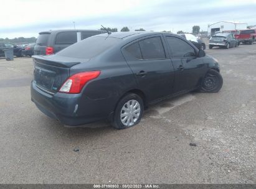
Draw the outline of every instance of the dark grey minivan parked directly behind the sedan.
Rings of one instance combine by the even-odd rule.
[[[40,32],[34,47],[34,55],[50,55],[75,44],[77,33],[80,33],[81,40],[106,33],[104,30],[50,30]]]

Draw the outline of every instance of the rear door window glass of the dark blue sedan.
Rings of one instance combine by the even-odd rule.
[[[149,39],[141,40],[139,43],[143,59],[166,58],[160,37],[152,37]]]

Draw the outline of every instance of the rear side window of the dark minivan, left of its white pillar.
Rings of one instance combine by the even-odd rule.
[[[57,34],[55,44],[75,44],[77,42],[77,32],[60,32]]]

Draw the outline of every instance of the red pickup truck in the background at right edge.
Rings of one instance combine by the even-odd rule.
[[[243,44],[252,45],[256,38],[256,29],[240,30],[240,34],[235,34],[235,39],[239,40]]]

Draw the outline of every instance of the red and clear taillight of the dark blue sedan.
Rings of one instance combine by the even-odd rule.
[[[64,84],[61,86],[59,92],[61,93],[80,93],[83,86],[100,75],[100,71],[86,71],[76,73],[75,75],[70,76]]]

